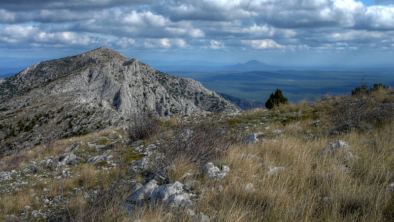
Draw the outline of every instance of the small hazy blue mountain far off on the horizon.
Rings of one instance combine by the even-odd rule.
[[[238,63],[235,65],[227,65],[219,68],[220,71],[277,71],[280,66],[269,65],[257,60],[251,60],[247,63]]]

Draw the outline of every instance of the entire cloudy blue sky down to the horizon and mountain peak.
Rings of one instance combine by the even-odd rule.
[[[0,68],[101,46],[140,61],[390,65],[394,1],[0,0]]]

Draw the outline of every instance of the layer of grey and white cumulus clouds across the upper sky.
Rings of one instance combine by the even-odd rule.
[[[0,42],[120,49],[392,47],[394,5],[357,0],[0,0]]]

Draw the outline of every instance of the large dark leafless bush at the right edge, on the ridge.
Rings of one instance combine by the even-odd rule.
[[[372,125],[380,125],[394,116],[393,103],[381,103],[366,84],[352,95],[341,95],[332,103],[326,119],[334,126],[333,133],[350,132],[351,129],[370,131]]]

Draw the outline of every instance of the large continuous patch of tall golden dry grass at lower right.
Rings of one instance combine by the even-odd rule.
[[[231,147],[221,159],[230,166],[230,174],[220,182],[201,180],[194,210],[209,215],[211,221],[393,221],[394,200],[387,186],[394,180],[394,122],[374,128],[373,133],[354,131],[335,137],[315,127],[319,133],[306,139],[299,127],[310,124],[290,124],[282,136],[258,145]],[[321,155],[337,139],[346,141],[348,151],[359,158],[344,160],[347,151]],[[255,156],[241,158],[244,154]],[[349,169],[344,171],[341,164]],[[185,172],[201,173],[181,161],[175,165],[177,170],[168,172],[171,182],[181,181]],[[269,175],[267,165],[286,170]],[[246,189],[249,183],[254,189]],[[325,202],[324,197],[330,200]],[[168,212],[162,206],[146,206],[132,220],[194,220],[182,211]]]

